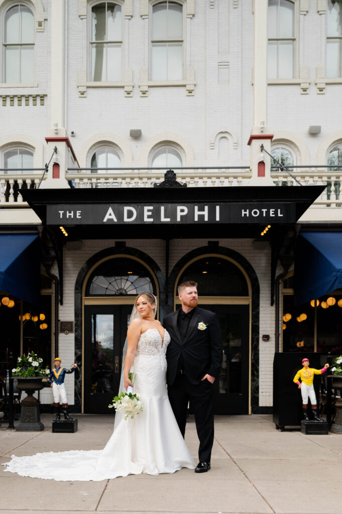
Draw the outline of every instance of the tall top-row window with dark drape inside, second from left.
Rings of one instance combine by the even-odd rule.
[[[121,80],[121,5],[101,2],[92,6],[91,71],[94,82]]]

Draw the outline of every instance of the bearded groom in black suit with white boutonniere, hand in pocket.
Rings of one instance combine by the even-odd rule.
[[[168,395],[183,437],[191,402],[200,439],[200,462],[195,472],[204,473],[210,469],[214,440],[213,383],[222,363],[221,330],[214,313],[197,307],[196,282],[179,285],[178,297],[182,308],[164,319],[171,336],[166,353]]]

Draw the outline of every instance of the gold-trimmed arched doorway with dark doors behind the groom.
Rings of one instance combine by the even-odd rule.
[[[199,306],[217,314],[222,331],[223,362],[215,381],[215,414],[250,413],[251,284],[241,264],[227,255],[197,255],[178,271],[174,307],[179,308],[177,286],[198,283]]]

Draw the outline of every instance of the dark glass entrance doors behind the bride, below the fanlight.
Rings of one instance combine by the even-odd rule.
[[[132,305],[84,307],[84,412],[109,413],[120,383]]]

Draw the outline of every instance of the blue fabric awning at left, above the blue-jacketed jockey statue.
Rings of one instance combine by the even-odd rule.
[[[40,244],[37,234],[0,234],[0,291],[40,303]]]

